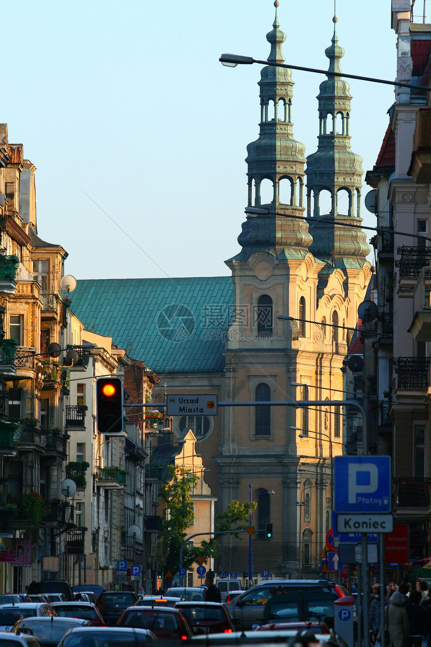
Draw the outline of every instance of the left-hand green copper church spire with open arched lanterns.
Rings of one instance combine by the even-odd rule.
[[[268,61],[283,63],[282,44],[275,3],[275,20],[266,35],[271,45]],[[291,105],[293,81],[287,67],[268,65],[260,72],[259,137],[247,146],[248,206],[265,206],[286,215],[258,215],[242,225],[238,243],[247,259],[258,250],[276,258],[304,258],[311,244],[305,221],[287,217],[303,215],[305,146],[293,137]],[[268,191],[266,191],[266,190]]]

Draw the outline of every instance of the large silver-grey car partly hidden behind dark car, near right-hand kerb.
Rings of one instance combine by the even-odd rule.
[[[265,580],[226,604],[234,626],[251,630],[264,618],[264,605],[273,595],[302,591],[335,591],[328,580]],[[337,593],[337,597],[339,594]]]

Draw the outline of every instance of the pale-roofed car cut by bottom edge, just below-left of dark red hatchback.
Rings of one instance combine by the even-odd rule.
[[[100,647],[114,644],[121,647],[143,647],[146,642],[155,641],[156,636],[149,629],[127,627],[83,627],[69,630],[58,643],[58,647]]]

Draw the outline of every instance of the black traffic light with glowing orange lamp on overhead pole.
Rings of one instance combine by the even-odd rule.
[[[119,377],[96,380],[96,427],[99,433],[123,431],[123,382]]]

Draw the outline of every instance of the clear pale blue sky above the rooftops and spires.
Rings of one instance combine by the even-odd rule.
[[[337,1],[344,72],[394,80],[390,8]],[[65,273],[229,274],[224,260],[239,251],[245,220],[246,146],[258,137],[260,66],[218,58],[268,58],[274,16],[273,0],[5,5],[1,120],[37,168],[38,233],[67,250]],[[286,63],[327,69],[332,17],[333,0],[280,0]],[[294,134],[306,155],[317,148],[325,78],[293,71]],[[366,171],[394,91],[356,80],[350,91],[352,149]],[[364,205],[363,216],[375,225]]]

